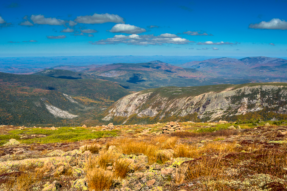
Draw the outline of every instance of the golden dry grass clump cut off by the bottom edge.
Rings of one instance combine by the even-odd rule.
[[[113,185],[113,173],[101,168],[88,169],[87,180],[89,182],[90,190],[109,190]]]

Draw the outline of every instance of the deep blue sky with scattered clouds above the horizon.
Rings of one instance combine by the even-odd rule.
[[[1,3],[0,57],[287,56],[286,0]]]

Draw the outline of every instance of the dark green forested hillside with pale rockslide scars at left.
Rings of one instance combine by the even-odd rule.
[[[0,115],[5,117],[7,114],[10,114],[12,116],[11,118],[0,120],[1,123],[6,124],[47,124],[52,122],[54,124],[56,122],[61,123],[62,125],[76,122],[94,124],[96,123],[96,116],[104,108],[129,94],[119,84],[107,80],[75,80],[39,75],[15,75],[2,72],[0,72],[0,87],[2,95]],[[20,90],[15,90],[16,87],[21,88]],[[28,90],[26,91],[25,89]],[[46,97],[48,97],[50,105],[39,105],[38,103],[43,101],[41,99],[46,99]],[[27,105],[24,103],[27,103]],[[55,119],[51,118],[51,112],[53,113],[53,110],[57,110],[54,107],[67,111],[70,114],[79,115],[79,117],[66,119],[54,116]],[[39,110],[40,114],[37,114],[36,110]],[[47,112],[50,114],[47,115]],[[16,115],[19,119],[15,118]],[[38,118],[35,117],[37,115],[39,115]],[[51,120],[48,120],[50,118]]]

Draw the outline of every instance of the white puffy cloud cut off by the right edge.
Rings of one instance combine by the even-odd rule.
[[[262,21],[259,23],[250,24],[249,28],[287,30],[287,22],[285,20],[272,19],[268,22]]]

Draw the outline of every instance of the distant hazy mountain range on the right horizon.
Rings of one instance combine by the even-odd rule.
[[[210,72],[217,77],[232,79],[253,79],[259,81],[287,81],[287,60],[264,56],[235,58],[213,58],[203,61],[192,61],[180,65]]]

